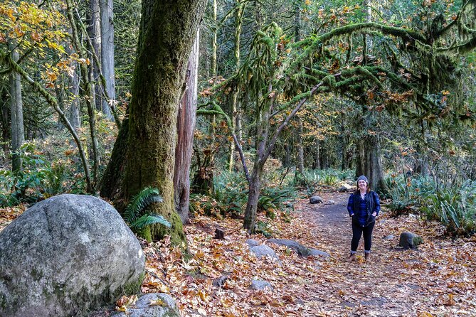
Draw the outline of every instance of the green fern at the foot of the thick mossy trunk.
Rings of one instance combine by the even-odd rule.
[[[149,215],[144,213],[145,208],[151,203],[162,203],[164,200],[159,195],[157,188],[146,187],[137,195],[134,195],[127,205],[124,213],[124,218],[132,229],[141,229],[147,225],[160,223],[166,227],[171,227],[162,215]]]

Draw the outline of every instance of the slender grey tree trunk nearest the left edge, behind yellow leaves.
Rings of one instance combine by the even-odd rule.
[[[18,60],[18,52],[11,50],[11,58]],[[10,115],[11,115],[11,170],[21,170],[21,156],[18,154],[21,144],[25,141],[23,127],[23,102],[21,100],[21,76],[17,72],[10,74]]]

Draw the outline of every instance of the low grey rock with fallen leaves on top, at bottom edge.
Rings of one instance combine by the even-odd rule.
[[[180,312],[168,294],[149,293],[140,296],[134,306],[127,307],[127,314],[116,312],[111,317],[180,317]]]

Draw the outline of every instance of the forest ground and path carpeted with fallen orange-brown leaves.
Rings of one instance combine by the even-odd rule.
[[[242,220],[196,216],[185,227],[189,261],[178,247],[170,247],[169,240],[144,245],[147,277],[142,291],[170,294],[184,317],[476,316],[476,235],[451,240],[443,236],[440,225],[415,215],[389,217],[383,210],[374,230],[371,261],[364,261],[362,240],[358,261],[348,262],[349,195],[319,195],[334,204],[299,200],[290,222],[280,215],[260,219],[273,224],[273,237],[295,240],[330,257],[303,258],[266,243],[280,262],[257,259],[246,240],[263,244],[267,239],[247,235]],[[0,210],[0,231],[21,211]],[[223,240],[213,238],[217,227],[225,231]],[[397,246],[403,231],[423,237],[418,250]],[[394,237],[388,239],[389,235]],[[213,280],[221,277],[222,285],[214,286]],[[273,289],[252,290],[253,279],[268,281]]]

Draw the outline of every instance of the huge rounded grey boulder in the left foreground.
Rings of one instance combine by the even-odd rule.
[[[58,195],[0,232],[0,316],[83,316],[139,291],[145,258],[104,200]]]

